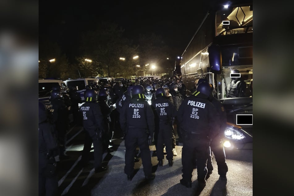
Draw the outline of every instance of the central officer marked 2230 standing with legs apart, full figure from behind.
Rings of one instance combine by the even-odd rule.
[[[155,174],[151,173],[152,163],[148,139],[153,139],[154,114],[151,106],[145,101],[144,87],[135,85],[132,89],[132,99],[125,103],[121,109],[121,129],[126,133],[125,169],[127,179],[134,177],[134,156],[136,145],[139,146],[142,156],[143,171],[146,180],[153,180]]]

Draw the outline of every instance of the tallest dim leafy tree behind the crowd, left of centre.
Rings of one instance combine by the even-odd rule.
[[[124,70],[119,58],[125,54],[130,41],[123,38],[123,32],[115,23],[101,22],[95,31],[82,36],[82,53],[92,58],[96,70],[102,70],[103,76],[115,77]]]

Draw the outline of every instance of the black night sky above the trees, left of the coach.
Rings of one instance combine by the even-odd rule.
[[[40,1],[39,35],[40,39],[49,37],[56,41],[67,56],[74,56],[80,35],[95,29],[96,21],[108,20],[125,29],[124,36],[134,43],[139,34],[153,32],[161,35],[175,54],[181,55],[207,12],[203,4],[199,1]]]

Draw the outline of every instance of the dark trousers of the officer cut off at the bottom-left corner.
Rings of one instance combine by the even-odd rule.
[[[58,192],[57,173],[53,177],[44,174],[47,164],[46,152],[39,152],[39,196],[53,196]]]

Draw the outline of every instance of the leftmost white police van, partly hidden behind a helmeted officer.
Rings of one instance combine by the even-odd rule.
[[[39,101],[48,104],[52,87],[60,86],[63,91],[69,91],[62,80],[56,79],[39,79]]]

